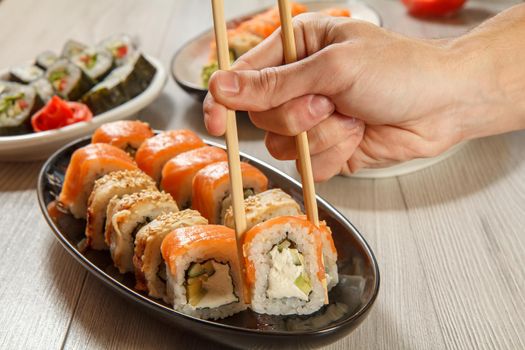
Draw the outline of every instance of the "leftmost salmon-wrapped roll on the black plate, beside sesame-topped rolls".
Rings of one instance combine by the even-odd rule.
[[[85,218],[95,180],[112,171],[132,169],[137,169],[133,159],[117,147],[96,143],[79,148],[71,156],[58,200],[74,217]]]

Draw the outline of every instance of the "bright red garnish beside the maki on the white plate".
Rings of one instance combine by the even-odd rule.
[[[89,121],[92,117],[93,114],[85,104],[68,102],[58,96],[53,96],[42,109],[31,117],[31,125],[35,132],[39,132]]]

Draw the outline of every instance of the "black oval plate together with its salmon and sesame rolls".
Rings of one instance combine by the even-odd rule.
[[[70,254],[176,327],[240,348],[346,336],[379,290],[365,239],[320,197],[310,223],[301,185],[279,170],[241,154],[241,173],[241,237],[224,146],[191,130],[103,124],[48,159],[37,192]]]

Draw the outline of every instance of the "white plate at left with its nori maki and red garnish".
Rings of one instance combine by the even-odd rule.
[[[129,118],[159,96],[167,74],[128,35],[89,46],[68,40],[60,53],[0,71],[0,161],[49,156],[103,123]]]

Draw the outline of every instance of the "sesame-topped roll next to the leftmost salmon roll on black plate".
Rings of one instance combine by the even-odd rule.
[[[112,198],[141,190],[155,191],[155,182],[140,170],[114,171],[95,181],[88,199],[86,217],[87,245],[96,250],[108,249],[104,241],[106,209]]]

